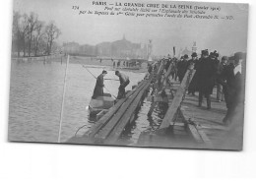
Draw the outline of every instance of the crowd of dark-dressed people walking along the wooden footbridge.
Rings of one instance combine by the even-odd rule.
[[[237,105],[243,102],[243,69],[242,69],[242,53],[234,54],[233,61],[230,62],[227,56],[220,59],[217,51],[209,53],[202,50],[201,57],[196,52],[191,54],[191,58],[187,54],[179,60],[177,58],[163,58],[164,72],[166,73],[171,65],[170,79],[182,82],[188,69],[195,69],[196,73],[189,85],[188,94],[195,95],[199,92],[198,106],[202,106],[204,97],[207,102],[207,109],[211,109],[211,101],[214,88],[217,88],[216,101],[225,101],[227,112],[224,117],[224,124],[228,125],[233,116],[233,112]],[[151,66],[150,66],[151,67]],[[150,68],[149,68],[150,70]]]

